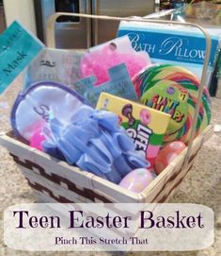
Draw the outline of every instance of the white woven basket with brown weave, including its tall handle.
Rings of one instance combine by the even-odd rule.
[[[47,31],[47,43],[55,47],[55,20],[60,15],[80,16],[91,19],[136,21],[134,18],[118,18],[108,16],[92,16],[75,13],[55,13],[49,20]],[[168,23],[141,19],[141,22]],[[180,24],[178,22],[169,22]],[[206,38],[207,49],[204,60],[201,85],[198,90],[198,100],[193,128],[197,124],[197,113],[203,93],[203,84],[206,80],[206,71],[210,57],[211,40],[206,31],[194,24],[182,24],[182,26],[195,26],[200,29]],[[0,144],[8,148],[13,160],[21,168],[28,184],[36,194],[39,202],[165,202],[172,192],[182,182],[187,172],[193,165],[198,150],[213,134],[213,127],[209,126],[195,138],[196,131],[192,128],[188,147],[171,162],[166,169],[154,179],[142,193],[133,193],[119,187],[108,180],[97,177],[77,167],[70,166],[51,158],[39,150],[18,141],[7,132],[0,135]],[[195,138],[195,139],[194,139]]]

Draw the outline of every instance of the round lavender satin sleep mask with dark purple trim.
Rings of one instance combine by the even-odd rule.
[[[41,81],[18,94],[11,111],[11,127],[18,137],[29,142],[33,134],[52,118],[70,123],[71,116],[82,105],[90,106],[69,87]]]

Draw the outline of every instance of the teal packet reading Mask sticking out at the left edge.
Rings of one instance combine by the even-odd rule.
[[[44,47],[18,22],[13,22],[0,35],[0,94]]]

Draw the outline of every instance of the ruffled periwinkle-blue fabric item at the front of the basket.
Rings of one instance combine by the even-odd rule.
[[[150,166],[112,112],[85,105],[71,116],[70,124],[49,120],[45,133],[45,152],[55,157],[61,153],[70,164],[115,183],[135,168]]]

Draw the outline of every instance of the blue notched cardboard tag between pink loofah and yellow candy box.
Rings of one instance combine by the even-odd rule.
[[[92,106],[96,106],[102,92],[138,101],[127,67],[124,63],[109,69],[110,81],[94,86],[96,77],[90,76],[74,83],[74,90],[84,96]]]

